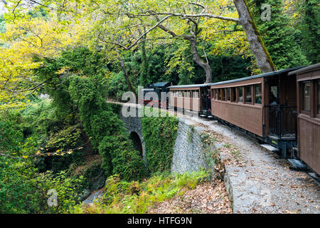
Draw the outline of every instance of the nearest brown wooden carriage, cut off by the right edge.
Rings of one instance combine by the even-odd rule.
[[[297,77],[298,156],[320,173],[320,63],[289,76]]]

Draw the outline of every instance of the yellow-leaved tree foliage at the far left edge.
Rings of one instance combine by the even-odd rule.
[[[14,8],[16,10],[16,8]],[[33,69],[41,66],[35,57],[55,58],[66,46],[79,40],[80,26],[57,17],[33,17],[30,11],[5,14],[6,31],[0,34],[0,107],[23,106],[26,97],[43,87]],[[20,15],[20,17],[18,17]]]

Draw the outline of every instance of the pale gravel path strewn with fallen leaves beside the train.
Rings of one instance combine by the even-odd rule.
[[[223,135],[225,143],[237,147],[244,158],[243,167],[225,165],[234,213],[320,213],[320,189],[304,172],[289,170],[286,160],[277,159],[254,140],[225,125],[202,119],[196,122]],[[223,157],[221,150],[220,155]]]

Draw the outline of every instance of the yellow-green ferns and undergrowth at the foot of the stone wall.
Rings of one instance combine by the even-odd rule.
[[[90,214],[142,214],[151,207],[165,199],[176,195],[183,195],[183,190],[194,189],[203,182],[208,173],[191,172],[181,175],[154,175],[144,182],[124,182],[119,176],[114,175],[107,179],[105,195],[101,202],[95,202],[92,206],[77,205],[72,213]]]

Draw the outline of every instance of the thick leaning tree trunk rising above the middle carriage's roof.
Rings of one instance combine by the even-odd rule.
[[[233,0],[233,2],[239,14],[240,24],[242,24],[250,43],[250,48],[257,59],[257,66],[259,66],[262,73],[277,71],[276,66],[274,66],[274,63],[272,62],[270,53],[267,51],[265,43],[262,41],[255,21],[250,14],[247,2],[245,0]]]

